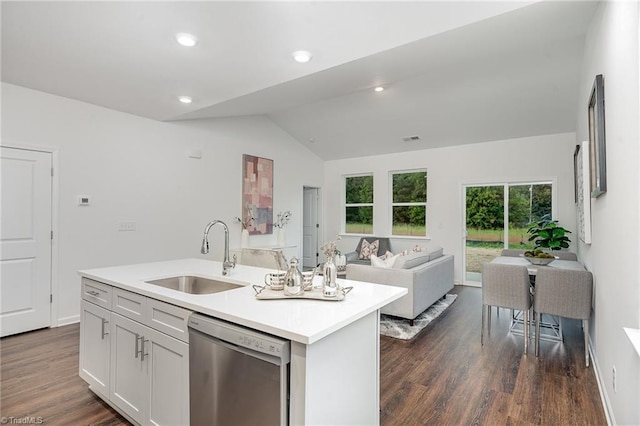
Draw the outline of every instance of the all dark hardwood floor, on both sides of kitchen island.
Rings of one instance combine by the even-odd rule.
[[[523,355],[508,311],[480,346],[480,289],[458,299],[411,341],[381,337],[382,425],[606,424],[593,367],[584,366],[579,321],[565,341]],[[46,425],[123,425],[78,377],[77,324],[0,340],[0,414]],[[37,420],[37,419],[36,419]]]

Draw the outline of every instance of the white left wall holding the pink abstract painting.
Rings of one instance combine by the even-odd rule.
[[[201,257],[205,225],[230,228],[240,245],[242,154],[274,160],[274,212],[291,210],[287,243],[299,247],[303,185],[321,186],[322,161],[261,117],[165,123],[2,84],[2,144],[59,153],[58,323],[78,320],[79,269]],[[187,158],[190,149],[202,159]],[[88,195],[90,207],[78,207]],[[118,232],[120,221],[136,232]],[[210,233],[221,259],[222,229]],[[252,236],[250,245],[276,244]],[[55,311],[55,309],[54,309]],[[55,324],[54,324],[55,325]]]

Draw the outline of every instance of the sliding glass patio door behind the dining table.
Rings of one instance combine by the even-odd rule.
[[[464,187],[464,282],[482,283],[482,264],[503,249],[530,249],[528,224],[552,213],[552,182]],[[507,206],[505,208],[505,206]]]

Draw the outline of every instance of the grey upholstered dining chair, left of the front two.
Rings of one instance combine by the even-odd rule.
[[[491,332],[491,306],[509,308],[524,313],[524,353],[529,347],[529,312],[531,310],[529,272],[526,266],[484,263],[482,265],[482,329],[480,343],[484,345],[485,317]]]

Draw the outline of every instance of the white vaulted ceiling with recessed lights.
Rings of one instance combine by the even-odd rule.
[[[327,160],[571,132],[597,6],[3,1],[2,81],[156,120],[266,115]]]

